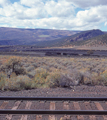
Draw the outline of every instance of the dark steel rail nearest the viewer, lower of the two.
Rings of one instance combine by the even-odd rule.
[[[107,110],[0,110],[0,114],[107,115]]]

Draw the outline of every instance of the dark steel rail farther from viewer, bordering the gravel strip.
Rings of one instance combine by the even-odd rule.
[[[3,97],[0,100],[107,101],[107,97]]]

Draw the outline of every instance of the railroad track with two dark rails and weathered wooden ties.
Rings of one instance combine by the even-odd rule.
[[[107,98],[0,97],[0,120],[107,120]]]

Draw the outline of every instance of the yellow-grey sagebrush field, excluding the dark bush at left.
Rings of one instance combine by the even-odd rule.
[[[13,58],[20,60],[26,72],[24,75],[11,73],[8,78],[7,73],[1,70],[1,90],[69,87],[80,84],[107,85],[107,58],[0,56],[1,67],[9,64]]]

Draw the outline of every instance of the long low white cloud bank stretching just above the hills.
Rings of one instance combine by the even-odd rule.
[[[30,20],[20,20],[17,18],[1,18],[0,23],[7,23],[10,26],[17,26],[23,28],[49,28],[49,29],[71,29],[71,30],[87,30],[87,29],[96,29],[98,24],[88,22],[81,22],[80,19],[64,19],[58,17],[52,18],[42,18],[42,19],[30,19]]]

